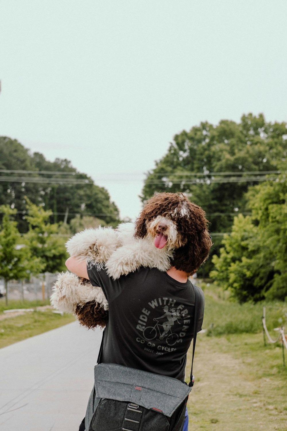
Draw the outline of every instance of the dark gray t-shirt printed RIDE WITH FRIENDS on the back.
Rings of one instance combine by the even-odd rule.
[[[155,268],[140,268],[113,280],[104,269],[92,266],[88,275],[93,286],[102,287],[109,306],[101,362],[183,380],[194,334],[194,289],[202,298],[197,331],[204,315],[202,290]]]

